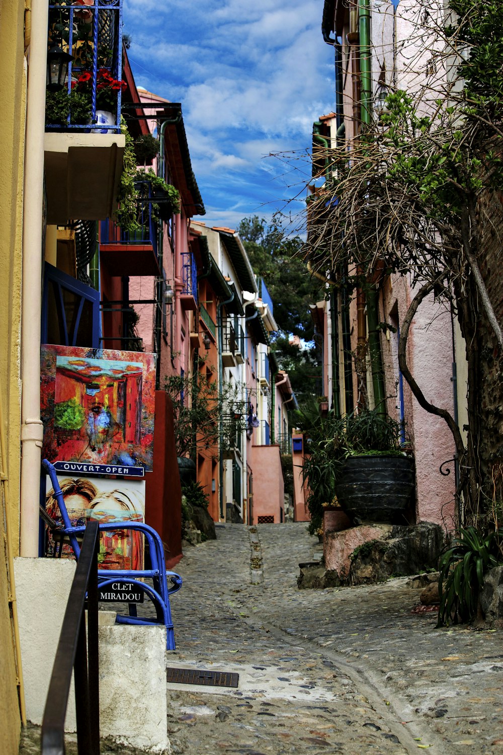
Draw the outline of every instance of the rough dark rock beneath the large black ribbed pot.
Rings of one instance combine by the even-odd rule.
[[[351,555],[350,584],[372,584],[436,567],[443,544],[443,529],[431,522],[388,527],[387,536]]]

